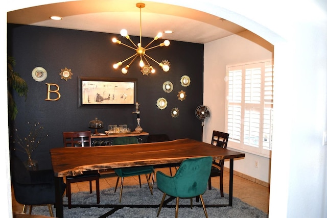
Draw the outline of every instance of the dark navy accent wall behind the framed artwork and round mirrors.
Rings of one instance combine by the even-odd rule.
[[[109,28],[109,27],[108,27]],[[109,124],[127,124],[132,130],[136,127],[134,105],[101,105],[83,106],[78,104],[78,77],[117,77],[137,79],[137,102],[140,104],[141,127],[150,134],[168,134],[171,139],[193,138],[201,140],[202,123],[195,116],[195,109],[203,102],[203,44],[171,41],[169,47],[159,47],[147,54],[155,60],[169,60],[171,68],[164,72],[149,60],[156,68],[156,73],[143,76],[134,62],[128,74],[123,75],[114,70],[112,65],[122,61],[134,52],[122,45],[111,42],[117,37],[123,43],[129,42],[116,34],[46,28],[36,26],[8,25],[8,55],[16,59],[14,70],[26,80],[29,86],[28,98],[14,94],[18,106],[18,115],[14,122],[9,120],[10,135],[18,130],[20,137],[28,134],[27,122],[40,122],[44,132],[49,136],[33,152],[32,158],[40,163],[40,168],[50,168],[49,151],[62,147],[63,131],[91,130],[88,128],[90,120],[98,119],[104,123],[107,130]],[[131,37],[134,42],[139,37]],[[142,38],[146,45],[151,38]],[[156,45],[164,40],[154,42]],[[48,77],[42,82],[36,82],[32,76],[35,67],[43,67]],[[72,69],[73,77],[65,81],[60,78],[60,69]],[[191,84],[183,87],[180,78],[188,75]],[[166,81],[173,83],[171,93],[162,90]],[[57,84],[61,98],[58,101],[45,101],[47,86],[45,83]],[[186,92],[186,99],[177,98],[178,91]],[[52,95],[52,98],[56,98]],[[168,106],[159,110],[156,101],[165,98]],[[173,118],[170,113],[173,107],[180,110],[180,115]],[[18,153],[21,159],[27,156]]]

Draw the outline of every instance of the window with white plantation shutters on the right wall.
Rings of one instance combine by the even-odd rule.
[[[226,66],[228,148],[271,158],[273,61]]]

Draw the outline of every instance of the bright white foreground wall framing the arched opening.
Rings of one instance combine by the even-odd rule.
[[[58,0],[12,0],[0,7],[0,66],[7,70],[7,12],[58,2]],[[322,132],[327,130],[327,3],[325,0],[153,0],[211,13],[237,23],[274,45],[275,102],[274,141],[271,163],[269,217],[327,217],[327,146]],[[205,63],[206,64],[206,63]],[[291,83],[291,84],[290,84]],[[7,92],[6,80],[0,90]],[[7,102],[5,94],[1,102]],[[6,108],[1,119],[7,121]],[[2,125],[2,133],[8,127]],[[9,143],[0,147],[3,183],[0,209],[11,217]],[[235,161],[236,162],[236,161]],[[5,167],[7,166],[7,167]],[[7,195],[6,195],[7,191]],[[7,214],[8,212],[8,214]]]

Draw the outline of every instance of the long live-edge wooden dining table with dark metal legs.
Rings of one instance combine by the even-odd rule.
[[[54,148],[50,150],[56,182],[56,216],[63,217],[61,178],[86,171],[130,166],[181,163],[195,157],[211,156],[213,160],[229,159],[229,202],[232,206],[233,160],[244,153],[222,149],[194,139],[126,144],[120,146]]]

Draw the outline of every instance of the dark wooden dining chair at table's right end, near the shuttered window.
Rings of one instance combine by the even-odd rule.
[[[214,146],[219,146],[223,149],[227,148],[229,133],[219,132],[214,130],[213,136],[211,139],[211,144]],[[224,197],[224,189],[223,189],[223,172],[224,172],[224,160],[213,161],[211,167],[211,173],[208,180],[208,187],[211,190],[211,178],[212,177],[220,177],[220,196]]]

